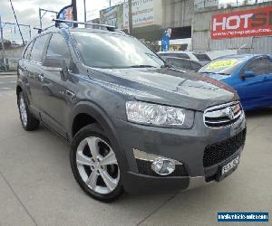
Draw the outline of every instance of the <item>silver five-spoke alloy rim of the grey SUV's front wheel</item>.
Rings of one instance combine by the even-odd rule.
[[[76,150],[76,165],[83,182],[96,193],[112,193],[119,184],[116,156],[102,138],[83,139]]]

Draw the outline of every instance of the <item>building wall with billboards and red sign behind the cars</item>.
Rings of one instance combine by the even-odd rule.
[[[272,53],[272,1],[226,2],[132,0],[133,35],[146,42],[156,42],[170,27],[171,40],[191,39],[192,51]],[[128,30],[128,17],[127,3],[100,12],[101,23],[124,31]]]

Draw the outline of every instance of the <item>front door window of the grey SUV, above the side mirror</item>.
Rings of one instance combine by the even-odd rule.
[[[67,65],[70,63],[71,54],[67,42],[64,40],[61,34],[53,33],[46,55],[60,55],[64,58]]]

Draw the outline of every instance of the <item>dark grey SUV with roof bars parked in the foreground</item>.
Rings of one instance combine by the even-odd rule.
[[[73,175],[95,199],[190,189],[238,166],[246,119],[234,89],[169,68],[129,35],[44,31],[17,74],[24,129],[43,122],[66,139]]]

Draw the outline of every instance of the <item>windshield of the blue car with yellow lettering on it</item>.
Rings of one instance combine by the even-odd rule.
[[[220,58],[209,62],[199,72],[230,75],[245,61],[247,61],[246,58]]]

